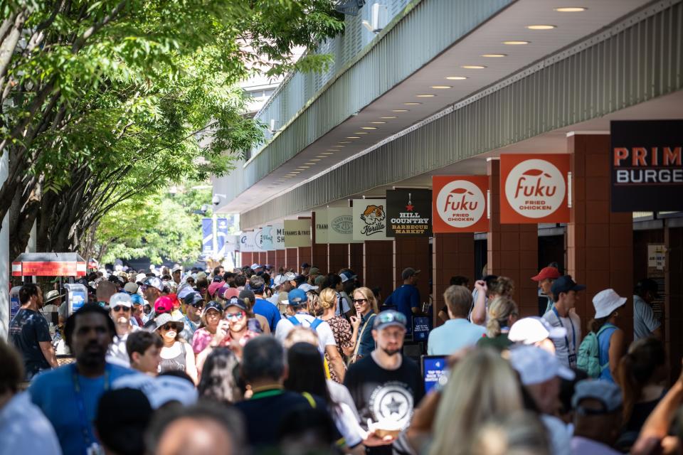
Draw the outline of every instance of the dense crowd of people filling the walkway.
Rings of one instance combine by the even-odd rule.
[[[352,270],[309,264],[105,271],[75,311],[24,284],[0,340],[0,454],[680,453],[683,377],[667,382],[655,282],[635,287],[627,346],[613,289],[582,336],[585,287],[556,267],[531,277],[548,299],[531,317],[511,279],[453,277],[426,390],[403,349],[419,274],[382,301]]]

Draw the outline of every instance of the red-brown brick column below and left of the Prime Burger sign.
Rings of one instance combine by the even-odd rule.
[[[613,288],[629,297],[617,326],[630,343],[633,336],[633,215],[610,212],[610,137],[573,134],[571,154],[572,208],[567,225],[567,273],[586,284],[576,306],[583,333],[595,316],[593,296]]]

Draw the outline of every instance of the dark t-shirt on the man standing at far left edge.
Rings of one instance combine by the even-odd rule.
[[[50,368],[38,344],[52,340],[45,316],[37,311],[20,309],[9,323],[9,340],[21,353],[26,380],[31,380],[37,373]]]

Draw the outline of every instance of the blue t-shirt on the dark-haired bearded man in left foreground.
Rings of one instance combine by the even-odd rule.
[[[112,382],[122,376],[142,374],[112,363],[107,363],[106,368],[109,376],[107,388],[111,388]],[[28,393],[31,395],[33,404],[41,408],[54,427],[63,453],[85,455],[90,444],[85,439],[83,428],[87,424],[90,437],[95,438],[92,422],[97,414],[97,402],[105,392],[106,375],[100,378],[85,378],[77,375],[80,387],[78,395],[82,397],[85,407],[85,416],[83,416],[78,406],[80,400],[73,383],[74,371],[75,364],[72,363],[41,373],[31,382]]]

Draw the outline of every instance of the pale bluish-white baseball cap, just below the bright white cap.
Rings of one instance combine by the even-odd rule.
[[[557,358],[536,346],[518,346],[510,349],[510,364],[517,370],[524,385],[541,384],[556,376],[573,380],[574,372],[562,365]]]

